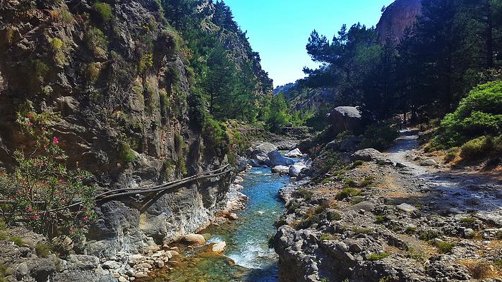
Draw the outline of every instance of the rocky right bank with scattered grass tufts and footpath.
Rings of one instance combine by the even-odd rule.
[[[413,132],[385,153],[320,156],[313,168],[337,165],[282,190],[281,281],[501,281],[500,179],[451,171]]]

